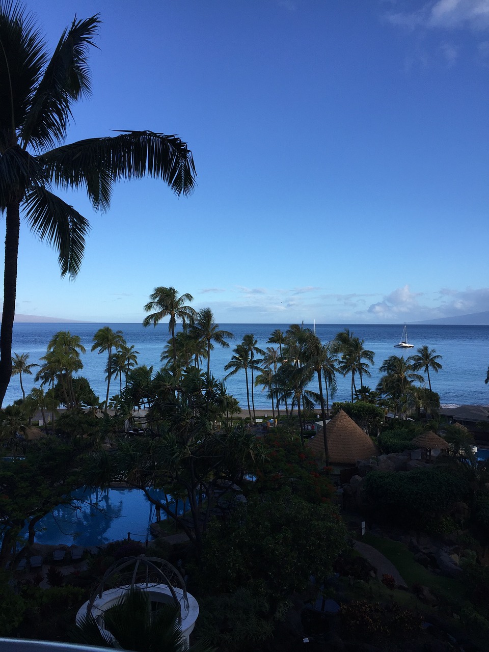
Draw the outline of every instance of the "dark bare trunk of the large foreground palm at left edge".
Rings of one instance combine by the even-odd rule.
[[[12,330],[17,289],[17,262],[20,233],[20,202],[7,206],[5,265],[3,268],[3,308],[0,326],[0,408],[12,376]]]

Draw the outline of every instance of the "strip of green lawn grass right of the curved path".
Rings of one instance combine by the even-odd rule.
[[[400,572],[409,587],[417,583],[427,586],[434,595],[443,597],[449,602],[460,603],[465,601],[466,589],[460,580],[435,575],[428,571],[415,561],[413,553],[404,543],[376,537],[372,534],[366,534],[361,541],[376,548],[387,557]]]

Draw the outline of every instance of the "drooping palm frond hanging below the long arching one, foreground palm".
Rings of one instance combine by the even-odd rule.
[[[36,186],[25,194],[25,216],[31,230],[58,250],[61,276],[74,278],[82,265],[87,220],[52,192]]]

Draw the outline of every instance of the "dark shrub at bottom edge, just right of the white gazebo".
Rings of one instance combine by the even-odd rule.
[[[267,619],[269,603],[263,595],[239,587],[233,593],[203,597],[200,602],[198,638],[230,652],[247,650],[273,634]]]

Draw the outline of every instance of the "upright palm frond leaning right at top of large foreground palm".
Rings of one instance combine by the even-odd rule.
[[[25,145],[30,143],[39,151],[65,138],[70,104],[91,91],[87,59],[98,25],[96,14],[85,20],[75,18],[70,29],[63,31],[22,126],[20,138]]]

